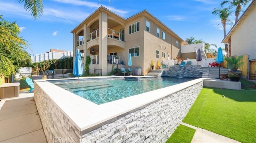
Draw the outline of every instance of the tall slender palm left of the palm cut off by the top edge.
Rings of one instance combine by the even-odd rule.
[[[222,26],[223,26],[223,31],[224,31],[224,37],[226,37],[226,23],[229,22],[230,20],[228,17],[231,15],[230,9],[228,8],[214,8],[214,11],[212,12],[214,15],[218,15],[220,17]],[[225,51],[228,53],[228,45],[225,44]]]

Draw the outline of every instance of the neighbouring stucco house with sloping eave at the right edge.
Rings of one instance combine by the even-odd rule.
[[[256,59],[256,0],[244,11],[222,43],[229,44],[229,56],[248,54],[249,60]]]

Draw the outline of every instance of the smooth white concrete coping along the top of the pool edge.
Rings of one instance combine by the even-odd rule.
[[[105,76],[105,77],[80,77],[79,79],[92,78],[123,78],[125,76]],[[130,76],[129,76],[130,77]],[[154,76],[133,76],[134,78],[145,78]],[[67,79],[53,79],[67,80]],[[77,78],[69,78],[68,80],[77,80]],[[198,78],[188,82],[183,82],[173,86],[168,86],[158,90],[130,96],[120,100],[115,100],[105,104],[97,105],[86,100],[76,94],[73,94],[55,84],[47,82],[47,80],[34,80],[42,90],[60,107],[60,109],[70,118],[70,121],[80,129],[80,132],[87,131],[102,125],[102,123],[114,119],[132,110],[142,108],[152,102],[156,102],[165,96],[178,92],[202,82],[204,78]],[[52,81],[52,80],[51,80]],[[159,94],[161,93],[161,94]],[[61,95],[61,96],[60,96]],[[86,111],[86,112],[85,112]]]

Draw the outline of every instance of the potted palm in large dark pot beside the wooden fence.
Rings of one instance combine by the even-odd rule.
[[[228,63],[228,78],[230,81],[236,81],[238,82],[242,76],[242,71],[240,71],[238,68],[243,64],[242,62],[243,56],[231,56],[231,57],[224,57],[224,59]]]

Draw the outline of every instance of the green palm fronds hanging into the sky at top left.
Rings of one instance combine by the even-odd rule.
[[[24,2],[24,8],[30,12],[34,20],[42,16],[43,14],[43,2],[42,0],[18,0],[19,3]]]

